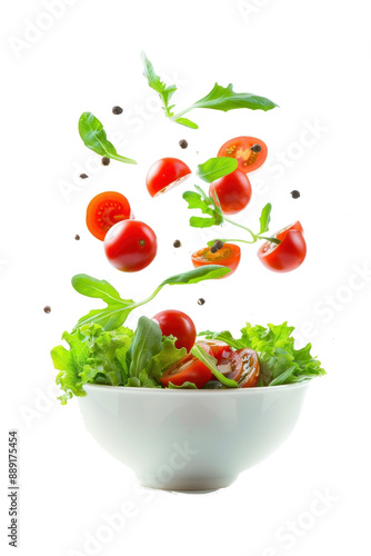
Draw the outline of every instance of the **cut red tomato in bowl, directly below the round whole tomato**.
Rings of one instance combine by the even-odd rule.
[[[207,344],[199,344],[209,355],[211,349]],[[169,381],[176,386],[183,383],[194,383],[198,388],[202,388],[211,378],[212,373],[200,359],[192,354],[186,355],[182,359],[174,363],[160,378],[163,386],[169,386]]]

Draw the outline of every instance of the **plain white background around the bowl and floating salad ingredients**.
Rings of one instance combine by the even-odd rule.
[[[130,503],[136,515],[97,554],[367,554],[368,2],[70,0],[51,19],[44,18],[46,3],[19,0],[1,9],[1,543],[9,549],[7,431],[16,427],[21,555],[88,554],[87,536],[97,537],[104,514]],[[49,29],[36,32],[33,27],[32,34],[34,23]],[[32,42],[16,47],[27,33]],[[142,49],[158,73],[178,85],[179,109],[203,97],[215,80],[267,96],[280,108],[267,113],[198,110],[190,115],[200,125],[197,131],[168,122],[141,75]],[[112,115],[114,105],[123,115]],[[86,110],[103,121],[119,152],[136,158],[138,167],[99,166],[77,132]],[[315,135],[305,132],[310,127]],[[123,297],[139,300],[167,276],[190,268],[189,254],[214,236],[188,226],[181,192],[192,180],[153,200],[144,186],[147,169],[164,156],[195,169],[239,135],[263,139],[269,159],[251,176],[254,199],[238,220],[255,226],[268,201],[272,231],[300,219],[308,241],[304,265],[275,275],[260,265],[255,246],[247,246],[233,277],[164,289],[144,310],[148,316],[184,310],[199,330],[238,332],[247,320],[289,320],[299,342],[312,341],[328,375],[311,385],[285,445],[231,487],[209,495],[140,492],[132,471],[84,431],[76,400],[66,407],[56,401],[49,351],[93,308],[71,288],[72,275],[106,278]],[[189,141],[184,151],[178,145],[182,138]],[[282,157],[284,162],[278,161]],[[82,171],[88,180],[78,178]],[[86,229],[87,203],[112,189],[128,196],[137,218],[159,238],[154,262],[138,275],[110,267],[102,245]],[[300,199],[292,199],[292,189],[300,190]],[[173,249],[174,239],[182,241],[181,249]],[[201,296],[202,307],[197,304]],[[46,305],[50,315],[43,312]],[[331,502],[311,519],[318,493]],[[282,535],[290,520],[297,533],[289,543]]]

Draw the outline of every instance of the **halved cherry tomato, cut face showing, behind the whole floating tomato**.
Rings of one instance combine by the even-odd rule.
[[[116,191],[104,191],[91,199],[87,208],[87,226],[94,238],[103,241],[112,226],[130,218],[128,199]]]

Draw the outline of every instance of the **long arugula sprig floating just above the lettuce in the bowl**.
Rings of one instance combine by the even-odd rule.
[[[163,286],[197,284],[202,280],[220,278],[225,276],[228,272],[230,272],[228,267],[221,267],[220,265],[205,265],[204,267],[194,268],[188,272],[171,276],[170,278],[163,280],[150,297],[139,302],[136,302],[132,299],[120,298],[117,290],[106,280],[98,280],[97,278],[92,278],[88,275],[76,275],[72,278],[73,288],[83,296],[102,299],[107,304],[107,307],[102,309],[93,309],[88,312],[88,315],[81,317],[78,320],[78,324],[73,327],[73,330],[93,322],[102,326],[104,330],[114,330],[123,325],[133,309],[151,301],[163,288]],[[117,296],[119,296],[119,298],[117,298]]]

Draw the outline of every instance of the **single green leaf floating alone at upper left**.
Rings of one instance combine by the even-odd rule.
[[[102,157],[113,158],[120,162],[136,165],[136,160],[121,157],[113,145],[107,139],[103,125],[91,112],[83,112],[79,120],[79,133],[88,149],[93,150]]]

